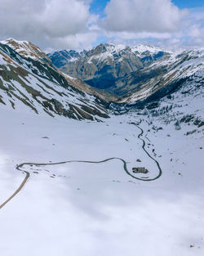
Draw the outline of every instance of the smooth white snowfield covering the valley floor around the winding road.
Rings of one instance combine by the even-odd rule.
[[[203,132],[147,116],[121,115],[103,123],[16,112],[0,106],[0,204],[25,173],[16,164],[122,158],[101,164],[24,165],[22,190],[0,209],[2,256],[200,256],[204,254]],[[141,162],[138,162],[140,159]],[[33,165],[33,166],[30,166]]]

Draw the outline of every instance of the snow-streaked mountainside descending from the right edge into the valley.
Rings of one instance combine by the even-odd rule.
[[[185,80],[194,80],[197,72],[204,70],[204,51],[184,51],[172,53],[162,61],[154,61],[152,65],[134,72],[118,80],[118,89],[123,95],[130,95],[121,102],[153,101],[183,85]],[[195,75],[194,75],[195,74]],[[203,72],[198,75],[203,83]]]

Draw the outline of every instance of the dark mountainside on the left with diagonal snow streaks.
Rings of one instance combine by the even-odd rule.
[[[0,43],[0,103],[7,107],[72,119],[107,118],[103,101],[79,90],[82,83],[52,65],[32,43]]]

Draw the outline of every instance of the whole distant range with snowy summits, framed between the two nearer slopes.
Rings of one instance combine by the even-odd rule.
[[[121,44],[104,43],[91,51],[78,54],[77,59],[70,61],[69,57],[64,61],[63,56],[61,60],[64,63],[67,62],[65,65],[61,65],[61,62],[59,65],[56,63],[59,62],[60,52],[54,52],[48,56],[65,74],[111,93],[119,78],[140,70],[153,61],[164,59],[170,55],[170,52],[150,46],[127,47]]]

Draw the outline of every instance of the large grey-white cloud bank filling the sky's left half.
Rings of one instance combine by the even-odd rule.
[[[95,22],[87,0],[1,0],[0,39],[31,40],[41,47],[85,45],[88,23]],[[69,39],[68,39],[69,38]],[[95,38],[95,37],[93,37]],[[79,42],[77,41],[79,39]],[[61,44],[64,41],[63,45]],[[90,39],[88,40],[90,43]]]

